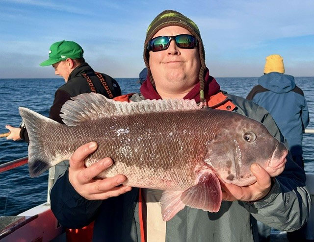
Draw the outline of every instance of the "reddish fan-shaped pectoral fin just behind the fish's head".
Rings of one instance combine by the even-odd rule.
[[[186,206],[203,209],[209,212],[218,212],[222,200],[222,191],[218,177],[213,172],[202,174],[199,182],[181,195]]]

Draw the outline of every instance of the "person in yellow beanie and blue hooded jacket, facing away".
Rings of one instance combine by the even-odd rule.
[[[303,91],[295,85],[294,77],[286,75],[283,57],[272,54],[266,57],[264,75],[246,97],[265,108],[276,121],[288,140],[292,158],[304,169],[302,135],[309,124],[309,110]],[[291,103],[291,100],[294,102]],[[304,174],[305,175],[305,174]],[[305,240],[305,228],[288,232],[289,241]],[[268,241],[270,227],[258,222],[260,242]]]

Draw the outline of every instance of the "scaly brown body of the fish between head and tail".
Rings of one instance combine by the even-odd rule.
[[[182,190],[195,184],[194,167],[204,163],[205,136],[214,138],[219,120],[215,112],[194,110],[103,118],[75,127],[47,124],[45,146],[53,155],[66,147],[69,159],[78,146],[95,141],[99,148],[86,165],[104,157],[114,160],[100,177],[122,173],[128,185]]]

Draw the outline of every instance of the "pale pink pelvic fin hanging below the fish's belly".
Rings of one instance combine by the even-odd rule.
[[[170,220],[185,207],[181,194],[182,191],[163,191],[160,198],[162,220]]]

